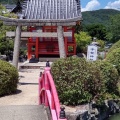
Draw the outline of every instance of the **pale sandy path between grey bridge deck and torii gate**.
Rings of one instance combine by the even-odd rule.
[[[1,105],[38,105],[38,78],[40,70],[19,72],[17,93],[0,97]]]

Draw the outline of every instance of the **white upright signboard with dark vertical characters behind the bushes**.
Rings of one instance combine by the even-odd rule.
[[[95,46],[95,45],[88,46],[87,60],[90,60],[90,61],[97,60],[97,46]]]

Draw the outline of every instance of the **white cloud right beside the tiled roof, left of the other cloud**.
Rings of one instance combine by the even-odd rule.
[[[98,0],[91,0],[90,2],[87,3],[85,8],[81,8],[81,11],[91,11],[95,10],[98,6],[100,6],[100,3]]]

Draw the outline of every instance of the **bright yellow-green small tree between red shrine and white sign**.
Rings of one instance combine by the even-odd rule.
[[[79,34],[75,34],[76,42],[77,42],[77,53],[78,52],[86,52],[87,45],[91,43],[91,36],[88,35],[87,32],[79,32]]]

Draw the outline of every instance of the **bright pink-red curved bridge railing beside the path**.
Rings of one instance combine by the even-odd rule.
[[[52,120],[67,120],[60,118],[60,102],[57,90],[50,73],[50,67],[46,67],[39,78],[39,105],[44,104],[50,108]]]

